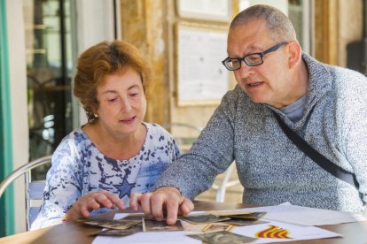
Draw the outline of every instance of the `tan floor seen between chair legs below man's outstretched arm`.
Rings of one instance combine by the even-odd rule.
[[[223,175],[224,174],[220,174],[217,176],[217,178],[215,179],[215,184],[218,185],[222,182]],[[234,170],[230,174],[230,180],[235,179],[238,179],[236,168],[234,168]],[[216,193],[217,191],[211,188],[210,190],[202,194],[199,194],[199,196],[197,196],[195,200],[215,202]],[[242,202],[242,193],[243,193],[243,187],[240,184],[233,187],[229,187],[226,190],[224,202]]]

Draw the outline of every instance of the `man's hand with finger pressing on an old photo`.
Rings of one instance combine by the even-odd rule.
[[[131,194],[130,207],[137,211],[139,205],[144,214],[161,221],[164,210],[167,210],[167,224],[174,225],[177,214],[188,214],[194,209],[190,199],[183,197],[176,187],[161,187],[155,192],[146,194]]]

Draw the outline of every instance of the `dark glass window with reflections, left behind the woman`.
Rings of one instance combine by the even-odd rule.
[[[70,5],[23,0],[30,160],[50,155],[73,129]]]

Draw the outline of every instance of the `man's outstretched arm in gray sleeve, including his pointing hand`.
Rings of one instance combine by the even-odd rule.
[[[157,219],[163,219],[167,210],[168,224],[176,222],[177,213],[193,210],[191,199],[211,187],[215,176],[233,161],[236,95],[236,91],[230,91],[223,97],[198,141],[188,154],[168,166],[154,185],[154,192],[132,197],[133,209],[140,204],[145,214]]]

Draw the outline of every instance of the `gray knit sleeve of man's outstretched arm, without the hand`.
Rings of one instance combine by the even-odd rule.
[[[176,187],[184,197],[194,199],[213,185],[215,176],[233,162],[236,91],[228,92],[200,133],[190,152],[168,166],[153,187]]]

